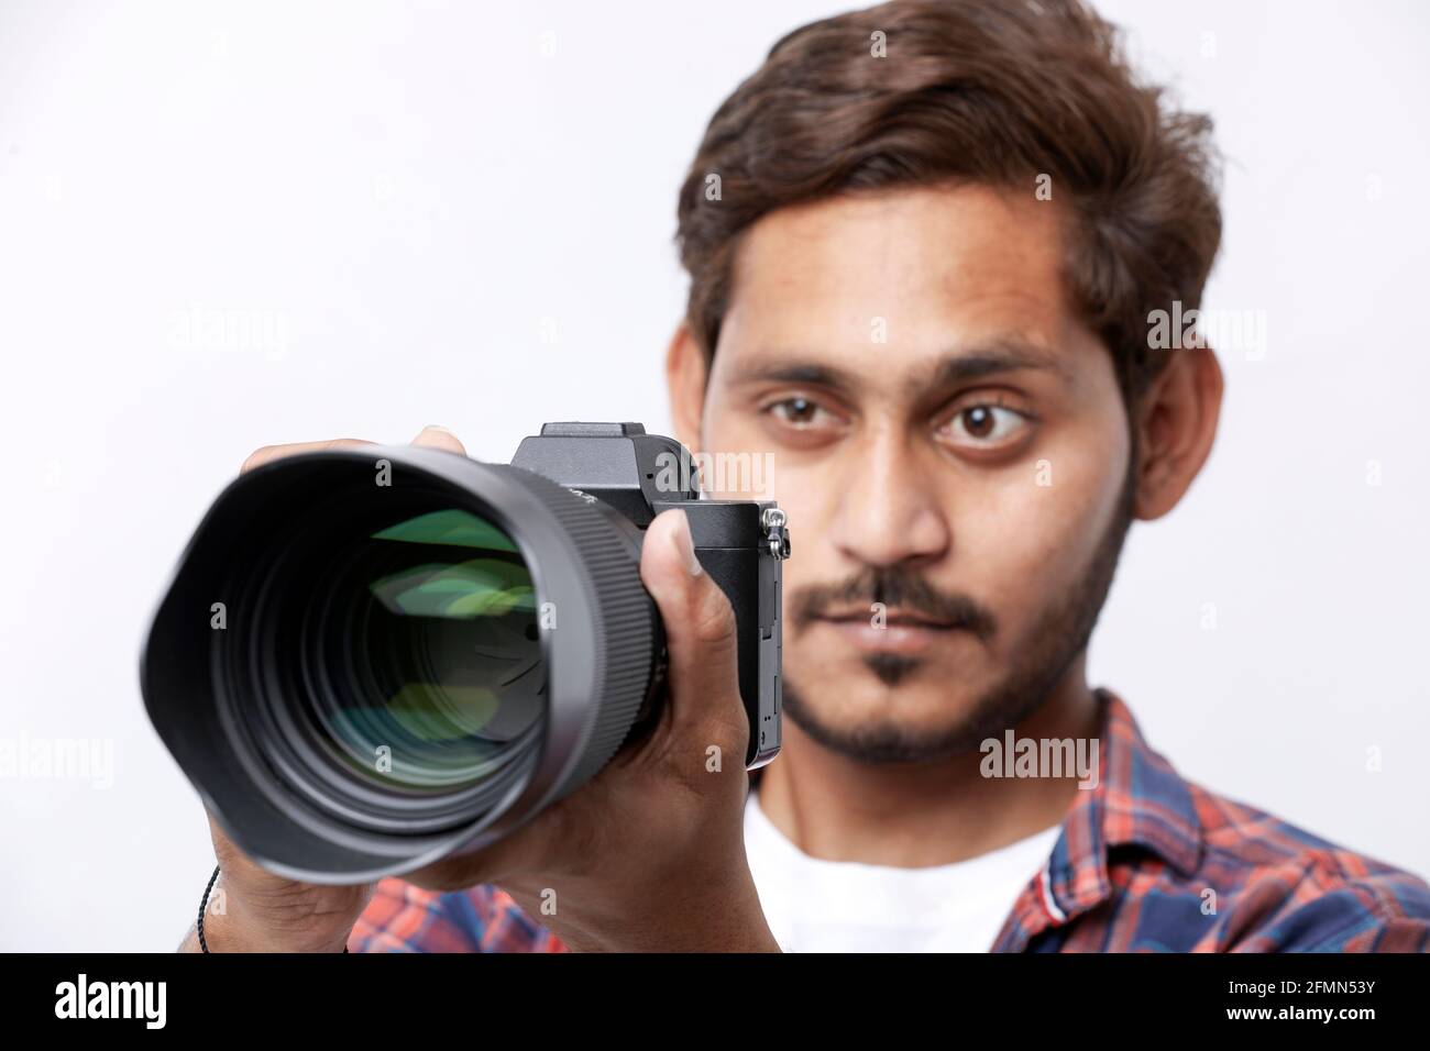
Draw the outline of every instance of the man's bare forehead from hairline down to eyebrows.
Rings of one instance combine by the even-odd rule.
[[[954,186],[766,216],[736,256],[716,369],[828,386],[1071,380],[1058,219],[1027,197]]]

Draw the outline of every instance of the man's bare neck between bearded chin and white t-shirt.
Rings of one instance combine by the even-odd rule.
[[[1098,702],[1085,656],[1015,738],[1091,739]],[[922,868],[948,865],[1062,821],[1078,788],[1064,778],[987,778],[974,751],[931,764],[864,764],[785,722],[779,756],[761,771],[759,806],[801,851],[829,861]]]

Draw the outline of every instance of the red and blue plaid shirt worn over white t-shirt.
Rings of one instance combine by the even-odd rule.
[[[1123,701],[1103,702],[1101,774],[1068,809],[994,952],[1423,952],[1424,881],[1183,781]],[[383,879],[355,952],[563,952],[496,887]]]

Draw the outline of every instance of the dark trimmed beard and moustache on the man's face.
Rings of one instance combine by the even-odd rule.
[[[791,676],[784,684],[784,714],[809,738],[839,755],[868,764],[937,762],[975,752],[991,736],[1015,726],[1040,709],[1068,666],[1087,648],[1107,601],[1117,561],[1133,523],[1137,450],[1128,458],[1123,492],[1113,520],[1098,541],[1088,566],[1060,601],[1044,609],[1031,633],[1032,645],[1020,651],[1012,668],[985,691],[968,715],[941,731],[912,731],[884,719],[854,729],[832,726],[819,718]],[[791,596],[791,613],[799,625],[809,623],[837,602],[884,602],[948,621],[987,642],[998,631],[995,618],[971,599],[938,592],[917,571],[871,568],[847,585],[812,588]],[[865,666],[885,686],[897,686],[917,672],[924,661],[895,653],[872,653]]]

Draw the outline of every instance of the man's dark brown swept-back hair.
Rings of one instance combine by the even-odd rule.
[[[1135,405],[1167,360],[1148,352],[1148,312],[1198,307],[1221,240],[1211,120],[1141,83],[1117,29],[1078,0],[897,0],[789,33],[715,112],[681,187],[686,320],[706,365],[741,235],[762,216],[941,183],[1032,194],[1044,174],[1072,222],[1071,302]]]

